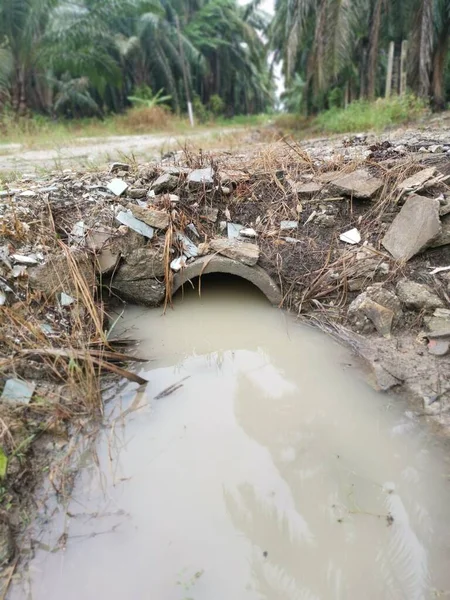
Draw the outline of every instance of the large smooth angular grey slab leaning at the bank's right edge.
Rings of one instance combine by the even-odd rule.
[[[394,258],[407,261],[430,246],[441,231],[439,200],[414,195],[395,217],[382,244]]]

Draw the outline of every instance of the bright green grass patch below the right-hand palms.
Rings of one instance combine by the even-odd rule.
[[[426,103],[415,96],[393,96],[375,102],[353,102],[346,109],[332,108],[318,115],[312,127],[324,133],[380,131],[391,125],[414,121],[426,112]]]

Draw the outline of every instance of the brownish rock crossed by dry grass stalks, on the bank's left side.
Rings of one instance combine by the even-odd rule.
[[[90,288],[96,284],[93,263],[84,252],[72,252],[71,258],[78,273]],[[65,254],[52,256],[44,265],[28,270],[28,280],[33,289],[41,290],[47,296],[65,292],[74,298],[79,288],[73,276],[71,261]]]

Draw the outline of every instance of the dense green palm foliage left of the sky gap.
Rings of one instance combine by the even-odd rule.
[[[267,24],[237,0],[0,0],[0,103],[78,117],[163,90],[175,111],[189,95],[229,115],[262,112]]]

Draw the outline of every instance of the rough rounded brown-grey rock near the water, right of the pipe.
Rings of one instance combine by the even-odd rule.
[[[388,336],[402,315],[397,296],[380,284],[369,286],[348,307],[347,318],[358,333],[371,333],[377,329]]]

